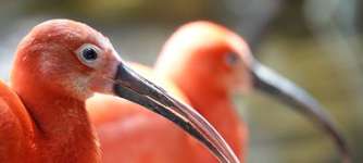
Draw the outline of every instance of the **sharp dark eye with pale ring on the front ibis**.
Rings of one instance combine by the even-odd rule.
[[[78,59],[82,63],[88,66],[95,66],[95,62],[100,58],[101,50],[95,45],[83,45],[76,51]]]

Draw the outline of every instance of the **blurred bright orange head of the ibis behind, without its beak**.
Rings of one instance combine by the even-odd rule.
[[[177,79],[185,85],[200,83],[220,92],[248,92],[252,85],[250,53],[238,35],[217,24],[200,21],[186,24],[173,34],[155,66],[157,72],[172,77],[188,72],[191,77]]]

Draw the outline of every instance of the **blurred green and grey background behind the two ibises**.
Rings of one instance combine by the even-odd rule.
[[[0,77],[9,80],[20,39],[58,17],[89,24],[109,36],[125,60],[151,65],[184,23],[210,20],[250,43],[262,63],[308,89],[336,117],[363,155],[361,0],[0,0]],[[259,93],[236,97],[250,127],[248,162],[339,162],[333,142],[310,122]]]

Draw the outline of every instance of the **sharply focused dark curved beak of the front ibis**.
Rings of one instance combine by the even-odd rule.
[[[168,118],[201,141],[220,162],[239,163],[226,141],[200,114],[123,63],[117,67],[114,93]]]

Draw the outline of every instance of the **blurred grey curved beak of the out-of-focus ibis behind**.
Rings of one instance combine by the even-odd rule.
[[[342,134],[337,129],[331,116],[325,112],[324,108],[314,98],[302,88],[299,88],[258,61],[253,61],[251,73],[253,74],[253,85],[255,88],[291,105],[311,118],[334,139],[341,153],[342,161],[346,163],[350,162],[351,155]]]

